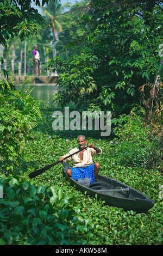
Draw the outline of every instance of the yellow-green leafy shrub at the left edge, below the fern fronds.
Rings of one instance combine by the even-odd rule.
[[[1,104],[0,120],[1,167],[13,170],[14,162],[20,159],[29,139],[32,123],[21,111],[6,102]]]

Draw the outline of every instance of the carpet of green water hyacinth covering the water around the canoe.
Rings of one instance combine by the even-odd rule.
[[[162,199],[159,198],[162,176],[141,164],[129,166],[127,154],[126,161],[122,162],[122,151],[117,154],[120,145],[123,147],[120,139],[87,137],[88,142],[102,148],[103,154],[94,159],[101,164],[101,174],[124,182],[155,200],[154,207],[146,214],[125,212],[82,194],[66,181],[61,164],[29,180],[30,172],[58,161],[70,147],[77,146],[76,131],[52,130],[54,106],[49,108],[41,102],[41,108],[42,121],[32,131],[35,139],[29,140],[18,173],[1,176],[4,190],[4,198],[0,199],[1,244],[162,245]],[[135,119],[139,123],[139,118]],[[126,121],[129,120],[126,117]],[[133,120],[135,126],[136,120]],[[125,134],[128,135],[127,131]],[[137,136],[138,133],[135,141]],[[140,136],[140,148],[142,138]],[[128,147],[129,144],[132,143],[128,139]]]

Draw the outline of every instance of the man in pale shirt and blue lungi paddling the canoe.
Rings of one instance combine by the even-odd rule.
[[[65,161],[64,158],[68,155],[86,147],[87,140],[84,135],[79,135],[77,137],[77,142],[79,147],[71,149],[68,154],[61,156],[59,159],[60,162]],[[67,175],[72,177],[74,180],[90,177],[91,183],[97,181],[100,164],[98,162],[93,163],[92,157],[99,156],[101,154],[101,148],[97,148],[93,143],[88,144],[88,148],[81,150],[79,153],[66,159],[67,162],[72,160],[73,163],[73,168],[66,170]]]

